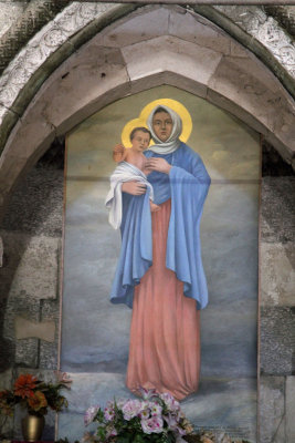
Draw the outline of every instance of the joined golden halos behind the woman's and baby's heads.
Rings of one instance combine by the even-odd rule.
[[[180,119],[182,120],[182,133],[180,134],[179,138],[181,140],[181,142],[185,143],[188,141],[192,130],[192,121],[188,110],[177,100],[158,99],[148,103],[140,112],[138,119],[130,120],[126,123],[120,134],[120,140],[125,147],[131,147],[131,142],[129,138],[130,132],[137,126],[147,127],[147,119],[150,112],[154,110],[154,107],[161,105],[170,107],[180,116]],[[150,145],[154,145],[152,141],[150,142]]]

